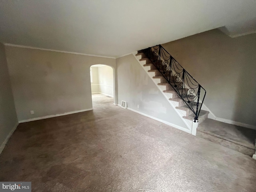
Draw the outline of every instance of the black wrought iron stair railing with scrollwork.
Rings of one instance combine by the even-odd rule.
[[[206,90],[161,46],[141,50],[159,70],[178,96],[195,114],[194,122],[204,102]]]

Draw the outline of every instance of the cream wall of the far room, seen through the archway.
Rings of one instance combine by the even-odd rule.
[[[99,92],[113,96],[113,69],[110,66],[98,67]]]

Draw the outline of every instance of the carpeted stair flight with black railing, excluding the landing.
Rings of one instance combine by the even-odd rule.
[[[140,50],[134,56],[182,118],[185,131],[196,135],[198,124],[209,114],[205,108],[201,110],[204,88],[161,45]]]

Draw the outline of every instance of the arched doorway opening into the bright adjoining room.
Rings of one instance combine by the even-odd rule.
[[[92,107],[102,108],[114,103],[113,68],[103,64],[90,67]]]

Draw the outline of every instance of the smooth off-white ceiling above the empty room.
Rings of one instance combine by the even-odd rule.
[[[0,0],[0,42],[118,57],[225,26],[256,31],[256,0]]]

